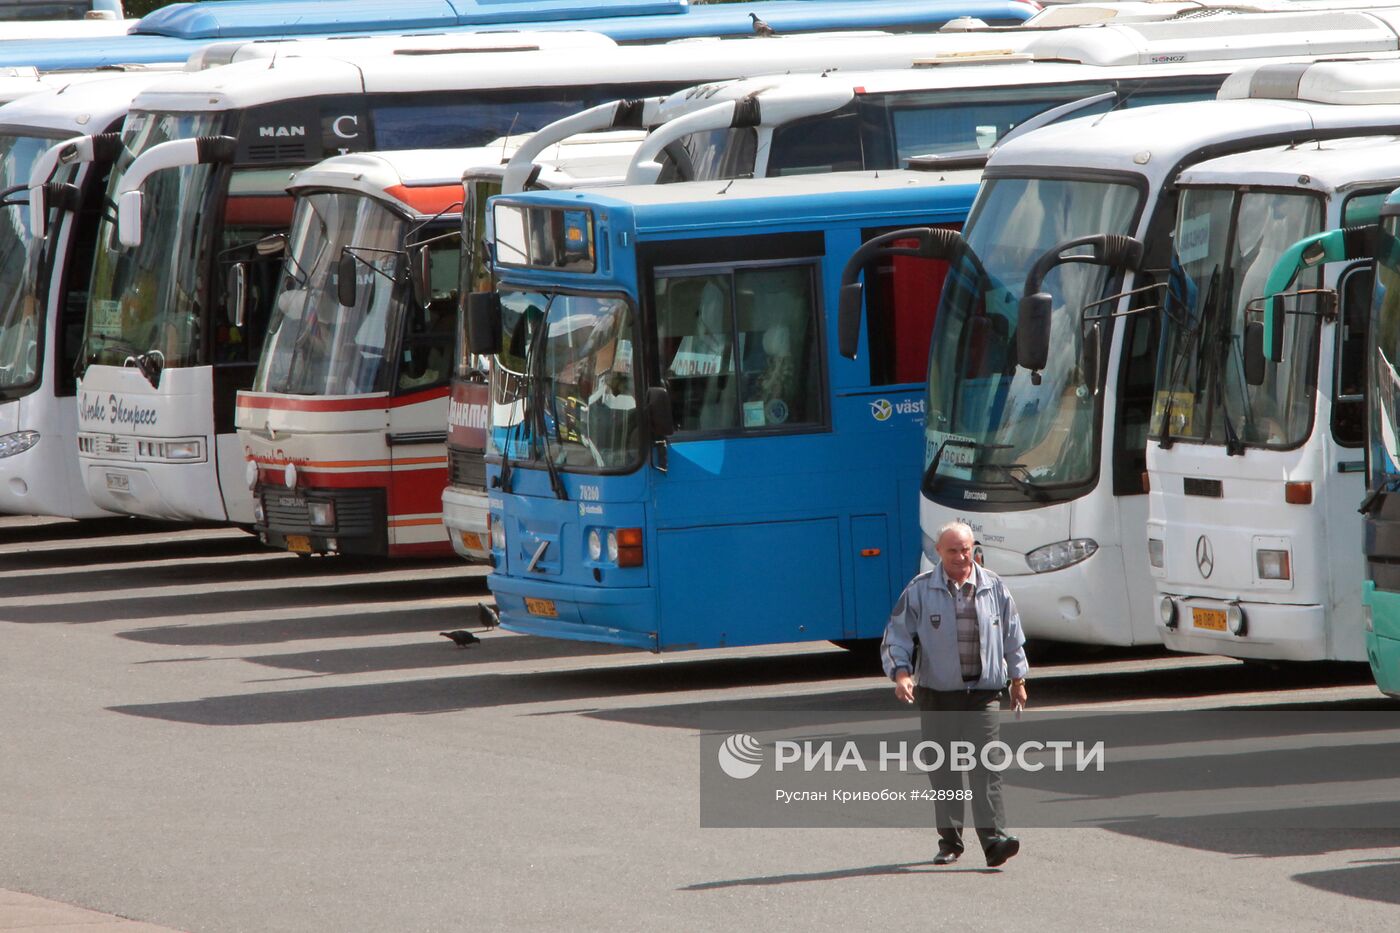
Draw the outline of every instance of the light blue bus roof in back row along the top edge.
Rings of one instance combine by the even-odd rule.
[[[589,29],[617,42],[662,42],[692,36],[741,36],[757,13],[776,32],[848,29],[935,31],[949,20],[976,17],[1014,25],[1037,11],[1028,0],[762,0],[753,4],[689,6],[687,0],[237,0],[176,3],[132,25],[127,35],[4,42],[0,66],[42,71],[106,64],[185,62],[230,39],[311,35],[372,35],[477,29]]]

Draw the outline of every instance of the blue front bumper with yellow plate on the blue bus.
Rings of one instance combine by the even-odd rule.
[[[497,573],[486,581],[508,632],[659,650],[651,587],[585,588]]]

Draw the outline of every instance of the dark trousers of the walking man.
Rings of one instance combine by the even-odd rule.
[[[931,691],[918,686],[914,693],[918,709],[923,710],[920,720],[924,741],[935,742],[944,751],[942,768],[928,772],[928,783],[935,793],[938,848],[944,852],[963,850],[963,801],[958,799],[958,792],[963,789],[963,772],[949,768],[951,742],[960,741],[973,745],[976,766],[967,772],[967,786],[972,790],[972,821],[977,828],[977,841],[986,850],[1007,831],[1001,772],[981,766],[981,749],[987,742],[997,741],[1001,731],[1001,691]],[[925,752],[923,758],[932,763],[934,752]]]

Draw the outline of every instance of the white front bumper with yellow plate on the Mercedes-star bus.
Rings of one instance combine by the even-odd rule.
[[[1327,658],[1327,612],[1320,605],[1232,602],[1180,594],[1162,594],[1159,605],[1162,598],[1175,601],[1175,625],[1158,621],[1162,643],[1173,651],[1270,661]],[[1243,616],[1239,633],[1231,630],[1231,608]]]

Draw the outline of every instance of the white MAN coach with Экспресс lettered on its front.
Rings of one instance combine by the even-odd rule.
[[[171,77],[133,104],[127,151],[111,182],[123,220],[99,238],[80,364],[88,490],[115,511],[253,523],[234,396],[252,387],[279,261],[245,254],[286,231],[288,170],[347,151],[480,146],[603,99],[655,95],[741,69],[911,62],[942,41],[797,36],[617,48],[587,74],[568,56],[540,50],[375,55],[357,64],[288,57]],[[986,41],[946,36],[958,48]],[[252,282],[262,283],[241,326],[228,325],[232,262],[248,262]]]

